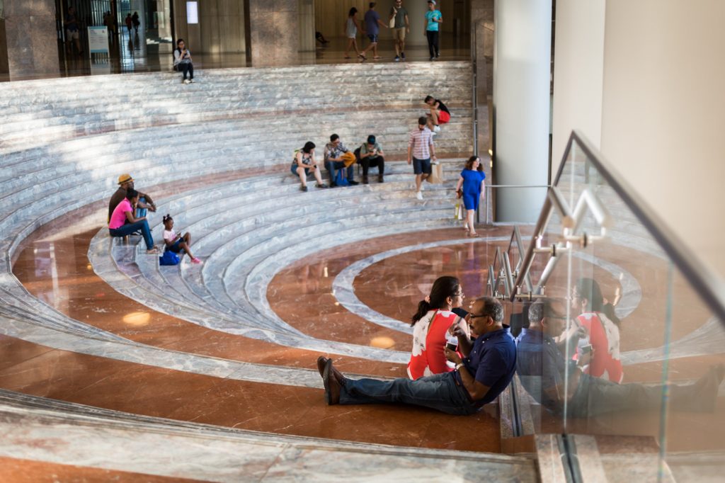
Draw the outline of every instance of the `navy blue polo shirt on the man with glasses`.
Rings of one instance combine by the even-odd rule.
[[[513,379],[516,371],[516,344],[505,329],[479,336],[473,342],[471,353],[463,359],[463,366],[460,371],[467,370],[473,379],[491,388],[483,399],[476,401],[479,405],[488,404],[496,399]],[[463,385],[458,371],[455,371],[453,377]]]

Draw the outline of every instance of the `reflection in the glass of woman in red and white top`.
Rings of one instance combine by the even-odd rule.
[[[614,306],[605,304],[602,289],[592,278],[579,278],[572,289],[571,305],[581,313],[576,321],[589,335],[588,343],[580,340],[575,356],[584,364],[584,373],[620,383],[624,369],[619,354],[620,321]],[[582,344],[586,350],[582,350]]]

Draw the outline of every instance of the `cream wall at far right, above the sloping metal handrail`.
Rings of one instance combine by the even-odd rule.
[[[601,96],[599,14],[579,3],[557,2],[554,160],[600,122],[602,154],[725,277],[725,1],[605,0]]]

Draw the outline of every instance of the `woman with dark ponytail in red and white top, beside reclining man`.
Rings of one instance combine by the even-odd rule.
[[[436,279],[431,294],[418,303],[418,312],[413,315],[413,350],[407,373],[410,379],[450,372],[447,365],[445,345],[451,326],[460,325],[468,334],[465,323],[451,310],[463,305],[463,289],[455,277],[443,276]]]

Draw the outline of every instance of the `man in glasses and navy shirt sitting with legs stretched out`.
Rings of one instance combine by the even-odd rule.
[[[331,359],[318,358],[318,371],[325,384],[325,399],[333,404],[376,404],[400,402],[433,408],[444,413],[477,413],[508,386],[516,368],[516,346],[503,328],[503,307],[492,297],[473,302],[466,317],[475,341],[456,326],[458,350],[445,350],[446,358],[455,363],[455,371],[425,376],[415,381],[405,378],[392,381],[347,379],[332,365]]]

